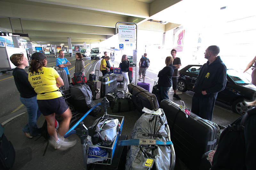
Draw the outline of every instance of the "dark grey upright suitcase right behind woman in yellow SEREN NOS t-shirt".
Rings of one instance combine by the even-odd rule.
[[[71,96],[70,88],[69,88],[69,83],[68,83],[68,76],[66,73],[66,70],[58,67],[54,67],[54,69],[60,74],[60,77],[63,80],[64,85],[60,87],[62,96],[67,99]]]

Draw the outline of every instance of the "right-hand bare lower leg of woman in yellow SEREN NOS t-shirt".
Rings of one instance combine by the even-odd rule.
[[[63,121],[61,121],[60,123],[58,133],[60,134],[60,136],[64,136],[69,129],[69,123],[72,118],[72,112],[70,108],[68,108],[63,114],[61,114],[61,116],[63,117]]]

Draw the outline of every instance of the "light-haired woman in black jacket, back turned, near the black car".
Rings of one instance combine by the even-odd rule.
[[[173,63],[173,58],[171,56],[166,57],[165,59],[166,67],[160,70],[157,75],[157,77],[159,77],[158,85],[160,87],[162,100],[169,99],[168,91],[172,86],[173,70],[176,68],[175,66],[172,65],[172,63]]]

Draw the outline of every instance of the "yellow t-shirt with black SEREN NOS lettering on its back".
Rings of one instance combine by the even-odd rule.
[[[53,92],[59,89],[56,85],[56,78],[59,76],[59,73],[51,67],[42,67],[38,73],[28,73],[28,81],[37,93],[37,100],[55,99],[62,96],[61,92]],[[40,94],[44,92],[47,93]]]

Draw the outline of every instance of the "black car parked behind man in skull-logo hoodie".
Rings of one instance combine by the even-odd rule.
[[[178,90],[186,92],[193,91],[193,86],[202,65],[188,65],[180,70]],[[227,69],[227,84],[223,91],[217,95],[217,101],[232,106],[235,113],[243,115],[250,106],[244,101],[255,99],[256,87],[244,78],[245,76],[233,69]]]

